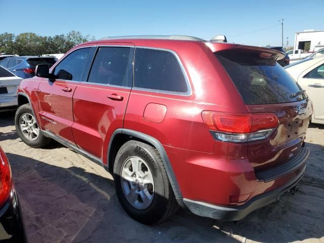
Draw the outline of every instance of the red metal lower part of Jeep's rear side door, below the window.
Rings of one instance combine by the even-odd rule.
[[[72,133],[77,146],[104,159],[112,133],[123,127],[123,119],[131,89],[79,84],[73,96],[74,123]],[[116,94],[123,100],[111,100]]]

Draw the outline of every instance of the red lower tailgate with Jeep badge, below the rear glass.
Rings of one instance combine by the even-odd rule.
[[[251,113],[275,113],[279,119],[279,126],[268,139],[249,143],[248,158],[256,172],[285,163],[300,151],[312,114],[308,98],[292,103],[247,107]]]

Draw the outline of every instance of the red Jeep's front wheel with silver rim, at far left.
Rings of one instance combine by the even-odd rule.
[[[30,147],[42,148],[51,142],[38,127],[29,104],[19,106],[15,114],[16,132],[21,140]]]

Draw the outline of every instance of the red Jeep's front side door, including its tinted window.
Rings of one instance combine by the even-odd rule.
[[[55,80],[42,78],[38,86],[39,117],[43,129],[74,143],[72,96],[83,78],[92,48],[77,49],[53,69]]]

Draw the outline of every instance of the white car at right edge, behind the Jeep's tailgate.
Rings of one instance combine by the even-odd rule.
[[[324,57],[307,58],[285,67],[313,102],[312,123],[324,124]]]

